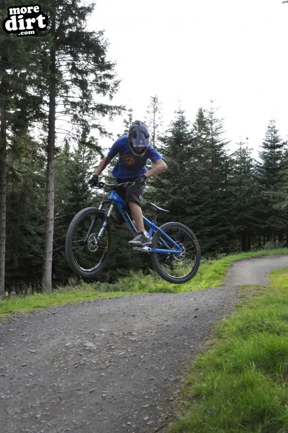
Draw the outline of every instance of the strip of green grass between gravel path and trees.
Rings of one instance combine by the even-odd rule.
[[[26,296],[13,296],[0,299],[0,320],[11,314],[29,313],[39,308],[49,308],[93,299],[112,298],[139,293],[177,293],[192,290],[207,289],[223,284],[231,263],[247,257],[287,254],[287,248],[262,250],[242,253],[208,260],[200,265],[198,273],[186,284],[171,284],[163,280],[157,273],[143,275],[142,272],[131,272],[126,278],[120,278],[115,284],[93,282],[82,283],[75,287],[66,286],[53,290],[51,293],[36,293]]]

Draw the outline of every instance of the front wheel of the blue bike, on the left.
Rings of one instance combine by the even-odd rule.
[[[72,271],[83,278],[92,278],[106,266],[111,254],[112,235],[105,213],[97,208],[85,208],[71,221],[66,236],[66,257]]]

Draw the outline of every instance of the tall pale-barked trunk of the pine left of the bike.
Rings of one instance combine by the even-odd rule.
[[[47,195],[46,195],[46,226],[42,273],[43,291],[52,289],[52,253],[54,232],[54,165],[55,165],[55,113],[56,113],[56,53],[54,46],[50,50],[51,76],[49,83],[49,118],[48,118],[48,149],[47,149]]]

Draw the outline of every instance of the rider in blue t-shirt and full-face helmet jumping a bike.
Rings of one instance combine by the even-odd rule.
[[[149,137],[150,133],[147,125],[136,120],[131,125],[128,135],[123,135],[112,145],[108,155],[101,160],[95,174],[88,181],[91,186],[96,186],[99,175],[105,170],[109,162],[119,154],[119,160],[112,171],[112,176],[117,179],[117,183],[125,181],[137,182],[134,186],[128,188],[120,187],[117,189],[118,195],[126,201],[134,217],[137,232],[135,238],[129,241],[129,244],[133,246],[152,243],[151,238],[144,229],[141,200],[143,198],[147,178],[167,170],[166,163],[162,156],[150,144]],[[149,171],[145,167],[148,159],[154,163],[152,169]],[[118,221],[121,223],[124,222],[119,212]]]

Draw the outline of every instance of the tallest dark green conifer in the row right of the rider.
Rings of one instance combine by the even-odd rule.
[[[222,119],[210,110],[199,109],[193,125],[195,155],[197,158],[197,186],[199,212],[196,227],[202,251],[228,251],[233,238],[231,224],[231,159],[223,136]]]

